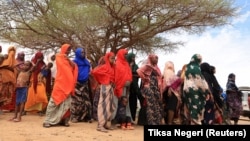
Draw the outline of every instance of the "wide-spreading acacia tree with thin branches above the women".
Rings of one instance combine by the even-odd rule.
[[[0,0],[0,38],[20,47],[57,51],[86,48],[96,61],[121,48],[149,53],[180,45],[167,36],[201,33],[230,23],[232,0]]]

